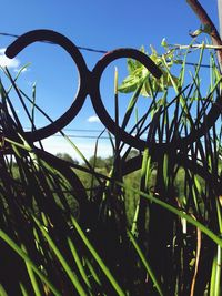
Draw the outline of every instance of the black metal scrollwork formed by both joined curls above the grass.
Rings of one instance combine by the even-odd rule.
[[[100,80],[103,71],[109,65],[109,63],[119,58],[132,58],[139,61],[152,73],[153,76],[159,79],[162,72],[147,54],[134,49],[117,49],[114,51],[108,52],[95,64],[94,69],[90,71],[79,49],[67,37],[51,30],[34,30],[24,33],[23,35],[19,37],[12,44],[10,44],[7,48],[6,55],[8,58],[14,58],[19,52],[21,52],[23,49],[36,41],[53,42],[62,47],[71,55],[79,72],[79,89],[71,106],[59,119],[44,127],[34,130],[32,132],[27,132],[28,139],[33,142],[46,139],[68,125],[81,110],[88,94],[90,95],[93,108],[104,126],[112,134],[117,135],[118,133],[118,136],[121,141],[139,150],[143,150],[149,145],[152,145],[152,147],[154,147],[155,150],[161,151],[169,150],[172,145],[174,149],[189,146],[202,135],[204,135],[204,133],[213,125],[221,113],[222,99],[219,94],[202,124],[193,126],[189,135],[184,137],[181,137],[179,135],[176,137],[176,142],[171,143],[148,143],[144,140],[132,136],[121,126],[117,126],[115,122],[105,110],[100,94]]]

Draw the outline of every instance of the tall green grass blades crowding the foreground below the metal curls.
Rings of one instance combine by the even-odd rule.
[[[30,99],[18,76],[4,73],[11,86],[0,84],[1,295],[221,295],[221,118],[195,142],[155,150],[203,124],[221,92],[214,55],[206,90],[204,50],[189,82],[186,54],[174,64],[176,76],[159,58],[163,81],[154,83],[149,72],[139,80],[122,123],[115,70],[115,122],[133,136],[147,134],[147,147],[110,139],[113,155],[105,162],[99,139],[85,160],[61,132],[81,164],[37,149],[10,100],[17,88],[34,129],[36,86]],[[167,81],[168,88],[160,84]],[[144,85],[150,98],[140,114]]]

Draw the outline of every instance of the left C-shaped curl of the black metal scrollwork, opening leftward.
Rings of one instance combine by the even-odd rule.
[[[71,106],[59,119],[44,127],[26,133],[28,139],[33,142],[59,132],[74,119],[74,116],[82,108],[88,94],[87,81],[90,73],[87,68],[85,61],[78,48],[67,37],[51,30],[34,30],[22,34],[7,48],[6,55],[12,59],[26,47],[36,41],[53,42],[62,47],[71,55],[79,72],[79,89]]]

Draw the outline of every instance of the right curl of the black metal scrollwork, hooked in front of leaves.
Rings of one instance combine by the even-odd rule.
[[[117,123],[112,120],[110,114],[107,112],[105,106],[102,102],[100,94],[100,81],[103,71],[105,68],[114,60],[120,58],[133,58],[140,61],[155,78],[160,78],[161,70],[152,62],[152,60],[145,55],[144,53],[133,50],[133,49],[118,49],[112,52],[105,54],[94,67],[93,74],[93,88],[91,88],[91,99],[93,108],[100,118],[101,122],[104,124],[108,130],[117,136],[119,140],[125,142],[127,144],[139,149],[144,150],[145,147],[154,149],[159,152],[167,152],[171,149],[184,149],[190,144],[194,143],[198,139],[203,136],[206,131],[209,131],[214,122],[218,120],[221,114],[221,105],[222,105],[222,96],[218,95],[216,101],[212,105],[211,110],[206,114],[202,125],[198,129],[194,129],[190,132],[189,135],[181,137],[178,136],[176,141],[168,142],[168,143],[155,143],[155,142],[145,142],[139,137],[134,137],[131,134],[127,133],[121,126],[117,126]]]

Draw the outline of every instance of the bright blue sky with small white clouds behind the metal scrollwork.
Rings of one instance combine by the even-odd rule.
[[[201,3],[218,25],[218,1],[204,0]],[[167,38],[169,43],[188,44],[191,41],[189,31],[194,31],[200,27],[199,19],[185,0],[138,0],[137,2],[125,0],[11,0],[3,1],[1,11],[0,32],[2,33],[20,35],[34,29],[50,29],[64,34],[75,45],[102,50],[139,49],[141,45],[149,48],[150,44],[160,50],[163,38]],[[0,49],[7,48],[12,41],[12,38],[0,35]],[[0,51],[1,53],[2,51]],[[99,53],[87,51],[81,51],[81,53],[90,70],[102,58],[102,54]],[[37,103],[52,119],[59,118],[71,104],[78,89],[77,69],[74,69],[68,54],[60,48],[42,43],[30,45],[8,65],[11,73],[16,75],[16,71],[29,62],[31,64],[22,73],[18,84],[31,94],[32,84],[37,83]],[[110,80],[105,78],[103,88],[104,95],[112,91],[113,78]],[[13,98],[11,99],[13,100]],[[108,110],[109,104],[111,103],[107,103]],[[27,122],[21,108],[16,105],[16,109],[26,127]],[[43,119],[39,119],[37,122],[38,126],[44,124]],[[97,121],[89,98],[81,112],[68,127],[72,130],[102,130],[103,125]],[[89,135],[85,132],[75,131],[73,133],[78,136]],[[90,135],[97,134],[97,132],[90,133]],[[93,154],[93,139],[75,137],[73,142],[87,157]],[[109,141],[100,141],[99,147],[99,153],[102,156],[111,154]],[[52,153],[68,152],[73,157],[78,157],[59,136],[48,139],[46,149]]]

